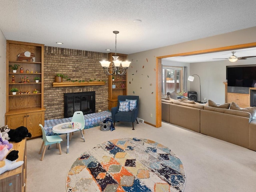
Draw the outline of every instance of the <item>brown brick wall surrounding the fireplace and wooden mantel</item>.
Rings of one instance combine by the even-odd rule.
[[[103,58],[108,58],[108,54],[44,46],[45,120],[64,117],[64,93],[95,91],[95,111],[108,110],[108,75],[99,62]],[[71,80],[105,80],[106,85],[52,87],[57,73],[67,75]]]

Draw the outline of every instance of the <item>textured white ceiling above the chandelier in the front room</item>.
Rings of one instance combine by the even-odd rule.
[[[255,10],[255,0],[1,0],[0,29],[95,52],[114,52],[118,30],[117,52],[131,54],[256,26]]]

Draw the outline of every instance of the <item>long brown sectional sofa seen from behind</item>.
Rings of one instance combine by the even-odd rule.
[[[256,119],[249,112],[162,99],[162,120],[256,151]]]

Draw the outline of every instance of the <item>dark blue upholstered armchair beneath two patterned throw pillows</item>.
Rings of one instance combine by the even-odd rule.
[[[132,130],[134,130],[134,121],[138,123],[137,116],[138,116],[138,110],[139,110],[139,96],[133,96],[133,95],[119,95],[117,97],[118,102],[117,106],[111,108],[112,113],[112,120],[114,122],[120,121],[120,122],[132,122]],[[118,111],[120,102],[119,101],[125,101],[128,100],[137,100],[137,105],[132,111]]]

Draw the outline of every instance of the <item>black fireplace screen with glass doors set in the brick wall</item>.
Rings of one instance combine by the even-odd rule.
[[[72,117],[75,111],[95,113],[95,91],[64,93],[64,118]]]

